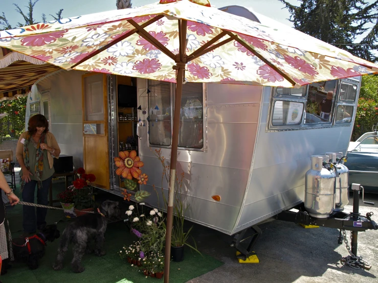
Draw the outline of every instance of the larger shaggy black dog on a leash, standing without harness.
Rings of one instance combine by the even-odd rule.
[[[62,238],[58,248],[58,256],[53,265],[54,270],[63,268],[64,254],[70,243],[74,244],[74,258],[72,260],[72,268],[75,273],[83,272],[84,267],[81,266],[81,258],[84,253],[91,252],[88,247],[89,241],[95,239],[95,254],[98,256],[105,255],[103,244],[105,242],[105,231],[108,220],[116,219],[120,216],[118,201],[106,200],[99,207],[99,213],[85,214],[78,218],[74,218],[64,229]]]

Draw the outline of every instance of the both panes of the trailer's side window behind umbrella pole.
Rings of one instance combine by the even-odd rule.
[[[174,84],[149,80],[148,129],[149,144],[171,145],[171,86]],[[202,149],[204,146],[203,84],[186,83],[180,109],[179,147]],[[173,103],[174,104],[174,101]]]

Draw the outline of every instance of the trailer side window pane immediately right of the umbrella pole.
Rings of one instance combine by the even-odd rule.
[[[200,149],[204,146],[203,97],[202,83],[183,85],[179,147]]]

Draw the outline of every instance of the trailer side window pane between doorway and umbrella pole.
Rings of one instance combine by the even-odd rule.
[[[171,145],[171,91],[170,83],[149,80],[149,143]]]

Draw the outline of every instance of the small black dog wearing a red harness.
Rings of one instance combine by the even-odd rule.
[[[13,239],[14,260],[28,264],[30,269],[38,268],[38,261],[45,255],[47,242],[53,242],[60,237],[59,230],[55,224],[46,225],[37,234],[26,238]],[[8,264],[3,264],[7,271]],[[3,273],[3,270],[2,270]]]

